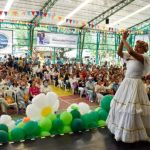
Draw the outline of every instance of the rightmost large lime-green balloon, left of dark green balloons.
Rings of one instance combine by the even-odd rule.
[[[60,119],[63,121],[64,125],[70,125],[72,121],[72,115],[69,112],[63,112],[60,115]]]

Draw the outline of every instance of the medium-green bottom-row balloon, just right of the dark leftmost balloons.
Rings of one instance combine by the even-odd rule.
[[[24,130],[21,128],[14,128],[11,131],[11,139],[13,141],[20,141],[25,139],[25,133]]]

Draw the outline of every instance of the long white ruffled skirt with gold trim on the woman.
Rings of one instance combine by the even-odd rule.
[[[117,141],[133,143],[150,137],[150,101],[141,79],[125,78],[117,90],[107,118]]]

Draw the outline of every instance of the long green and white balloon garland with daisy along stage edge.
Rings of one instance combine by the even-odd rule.
[[[38,97],[35,98],[37,101]],[[54,99],[56,100],[56,97],[54,97]],[[27,117],[17,120],[16,122],[12,121],[11,117],[8,115],[1,116],[0,143],[7,143],[8,141],[16,142],[70,132],[79,132],[99,126],[105,126],[105,120],[108,116],[111,99],[112,97],[110,96],[109,98],[104,97],[101,102],[102,108],[98,108],[95,111],[91,111],[90,107],[86,103],[79,103],[72,104],[68,107],[67,111],[60,114],[55,114],[53,110],[49,109],[51,107],[56,110],[56,105],[58,108],[58,102],[51,102],[52,106],[50,106],[49,103],[47,103],[48,105],[45,103],[41,107],[44,110],[40,109],[39,112],[37,111],[39,109],[39,105],[32,103],[31,105],[34,104],[37,106],[37,109],[33,107],[36,112],[38,112],[37,115],[40,113],[44,115],[40,114],[39,119],[39,116],[35,116],[35,114],[33,115],[34,112],[31,115],[27,108],[27,114],[29,114],[29,116],[27,115]],[[42,101],[44,101],[44,99]],[[106,106],[108,104],[109,106]],[[29,107],[31,108],[30,105]]]

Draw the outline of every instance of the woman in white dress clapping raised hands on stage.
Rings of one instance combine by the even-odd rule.
[[[133,143],[150,137],[150,101],[141,80],[150,73],[150,59],[144,54],[148,44],[137,41],[133,50],[126,41],[128,35],[127,31],[123,34],[118,49],[118,55],[126,59],[127,71],[111,102],[107,126],[117,141]],[[122,52],[123,46],[128,53]]]

